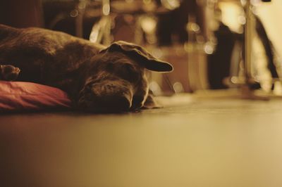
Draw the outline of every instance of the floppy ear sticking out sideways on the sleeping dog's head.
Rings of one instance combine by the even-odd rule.
[[[170,63],[154,58],[154,56],[147,52],[146,49],[142,48],[142,46],[126,41],[116,41],[103,51],[120,51],[136,60],[137,63],[148,70],[156,72],[171,72],[173,70],[173,66]]]

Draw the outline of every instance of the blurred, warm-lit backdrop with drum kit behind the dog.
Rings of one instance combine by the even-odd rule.
[[[280,0],[1,0],[0,23],[140,44],[174,66],[150,73],[157,96],[242,85],[282,95],[281,8]]]

